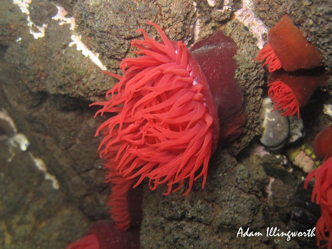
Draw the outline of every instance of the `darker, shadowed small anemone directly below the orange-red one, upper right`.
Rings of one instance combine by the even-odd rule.
[[[284,111],[282,116],[300,118],[300,108],[305,106],[318,87],[327,84],[327,74],[321,68],[299,70],[294,73],[280,69],[269,74],[268,95],[274,104],[273,110]]]

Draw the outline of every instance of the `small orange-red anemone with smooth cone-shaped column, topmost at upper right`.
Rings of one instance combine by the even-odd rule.
[[[255,60],[265,60],[262,66],[267,65],[270,72],[281,67],[292,72],[322,65],[317,49],[306,40],[288,15],[284,15],[270,30],[268,39],[269,43],[260,50]]]

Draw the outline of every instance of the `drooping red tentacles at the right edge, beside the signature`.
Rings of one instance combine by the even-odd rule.
[[[315,178],[315,185],[312,191],[311,201],[320,204],[321,216],[316,224],[317,245],[321,241],[327,241],[322,247],[332,248],[332,157],[323,164],[311,171],[304,182],[304,188],[312,178]]]

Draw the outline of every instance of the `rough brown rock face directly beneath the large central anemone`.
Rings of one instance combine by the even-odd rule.
[[[276,179],[268,194],[265,188],[272,176],[257,157],[237,162],[219,148],[211,160],[204,190],[196,184],[185,197],[181,193],[164,197],[166,188],[145,191],[142,248],[300,248],[283,238],[236,237],[240,227],[264,235],[268,226],[286,231],[282,221],[291,213],[297,190],[292,182]],[[290,190],[286,196],[285,190]]]

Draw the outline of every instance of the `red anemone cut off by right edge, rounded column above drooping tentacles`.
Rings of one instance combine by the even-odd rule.
[[[304,188],[312,178],[315,185],[311,201],[320,204],[321,216],[316,224],[317,245],[327,241],[322,247],[332,248],[332,124],[319,132],[314,141],[317,157],[324,159],[322,165],[311,171],[305,179]]]

